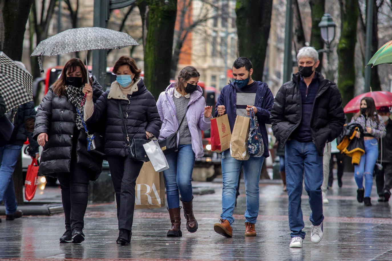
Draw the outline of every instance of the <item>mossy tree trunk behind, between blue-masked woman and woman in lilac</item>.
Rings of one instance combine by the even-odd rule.
[[[177,0],[149,0],[147,39],[144,49],[144,81],[155,99],[170,82]]]

